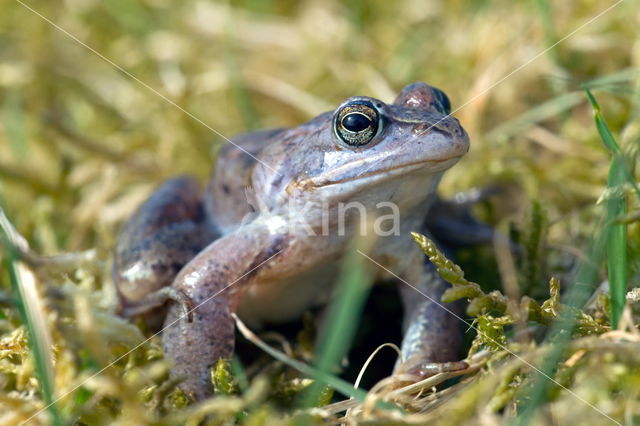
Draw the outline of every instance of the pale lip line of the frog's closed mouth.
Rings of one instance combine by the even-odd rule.
[[[343,174],[341,175],[340,169],[347,170],[356,170],[362,169],[362,166],[354,165],[354,164],[345,164],[339,169],[332,170],[327,175],[320,175],[318,177],[312,179],[305,179],[299,181],[297,186],[302,187],[304,189],[313,189],[313,188],[322,188],[331,185],[341,185],[348,182],[354,182],[359,180],[386,180],[391,179],[400,175],[408,174],[415,170],[420,170],[426,168],[425,172],[429,172],[430,174],[435,174],[447,170],[449,167],[453,166],[464,154],[454,155],[447,158],[436,158],[429,160],[420,160],[414,161],[405,164],[398,164],[393,167],[387,167],[384,169],[374,169],[370,167],[369,169],[365,169],[364,172],[357,174]],[[337,175],[337,176],[336,176]]]

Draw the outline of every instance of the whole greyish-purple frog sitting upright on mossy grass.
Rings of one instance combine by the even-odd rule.
[[[233,356],[234,316],[260,328],[328,303],[362,233],[359,213],[383,202],[395,206],[396,229],[367,256],[375,281],[398,282],[404,305],[394,374],[464,368],[455,307],[439,303],[447,284],[410,236],[429,235],[438,183],[469,150],[442,90],[418,82],[391,103],[354,96],[299,126],[230,142],[204,189],[190,176],[163,183],[115,247],[120,311],[164,318],[163,351],[182,391],[213,394],[212,366]],[[346,214],[345,203],[360,210]]]

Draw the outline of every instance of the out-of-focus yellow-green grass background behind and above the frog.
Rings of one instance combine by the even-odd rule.
[[[623,149],[639,140],[640,8],[623,1],[596,17],[614,4],[5,1],[0,203],[36,252],[95,248],[108,260],[120,224],[163,179],[204,182],[225,142],[210,128],[295,126],[346,97],[391,101],[424,81],[448,94],[472,141],[442,193],[500,187],[478,215],[505,232],[526,231],[532,204],[543,206],[546,294],[547,273],[572,274],[597,226],[610,162],[580,85]],[[499,288],[495,267],[474,259],[467,274]]]

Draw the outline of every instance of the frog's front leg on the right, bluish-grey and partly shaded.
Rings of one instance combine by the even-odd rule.
[[[414,254],[415,253],[415,254]],[[412,252],[411,267],[399,283],[404,304],[403,362],[395,374],[408,373],[426,378],[442,371],[467,367],[457,361],[462,344],[459,309],[440,302],[448,284],[419,250]]]

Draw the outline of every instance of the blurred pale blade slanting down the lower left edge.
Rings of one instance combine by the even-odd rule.
[[[4,260],[22,322],[29,332],[29,344],[35,371],[40,383],[42,399],[47,405],[54,425],[64,425],[64,419],[54,403],[54,374],[51,338],[43,315],[42,303],[36,291],[35,276],[18,259],[16,247],[25,244],[15,232],[9,219],[0,207],[0,229]]]

